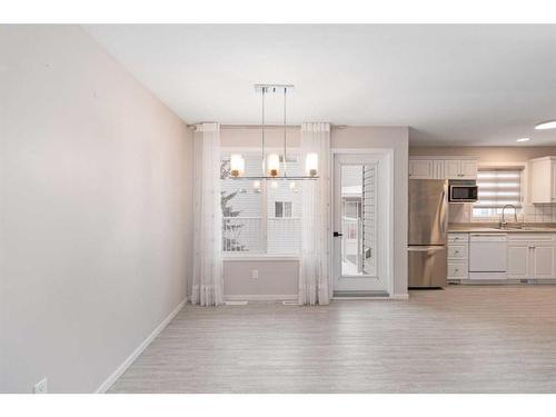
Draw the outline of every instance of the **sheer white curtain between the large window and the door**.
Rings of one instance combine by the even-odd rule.
[[[318,155],[318,180],[302,181],[299,304],[330,300],[330,125],[301,125],[301,161]]]

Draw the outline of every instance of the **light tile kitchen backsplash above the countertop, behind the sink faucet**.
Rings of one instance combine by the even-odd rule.
[[[448,221],[450,224],[471,222],[470,203],[450,203],[448,208]],[[523,208],[526,222],[556,222],[556,206],[554,205],[525,205]],[[517,219],[522,221],[522,211],[518,210]],[[506,220],[514,221],[514,210],[506,210]],[[498,222],[499,218],[473,219],[473,222]]]

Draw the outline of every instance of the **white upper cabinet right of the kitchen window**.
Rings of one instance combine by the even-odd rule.
[[[529,169],[530,201],[556,202],[556,157],[530,159]]]

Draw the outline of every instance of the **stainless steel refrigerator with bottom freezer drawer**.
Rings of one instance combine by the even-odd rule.
[[[409,288],[447,282],[448,181],[409,180]]]

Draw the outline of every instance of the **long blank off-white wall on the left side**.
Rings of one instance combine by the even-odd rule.
[[[191,135],[78,27],[0,27],[0,390],[90,393],[183,300]]]

